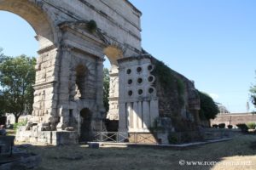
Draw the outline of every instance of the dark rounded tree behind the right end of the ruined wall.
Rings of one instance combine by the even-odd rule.
[[[201,110],[199,111],[201,119],[214,119],[219,113],[218,105],[215,104],[213,99],[208,94],[200,91],[198,91],[198,94],[201,102]]]

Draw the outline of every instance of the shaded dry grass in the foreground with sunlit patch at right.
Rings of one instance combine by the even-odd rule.
[[[143,147],[90,149],[83,145],[32,146],[26,150],[42,156],[43,161],[38,170],[256,169],[256,135],[236,135],[230,141],[187,150]],[[215,166],[182,166],[179,161],[185,164],[186,161],[220,163]],[[237,165],[239,163],[246,165]]]

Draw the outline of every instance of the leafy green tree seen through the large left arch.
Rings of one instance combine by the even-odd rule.
[[[20,55],[2,56],[0,61],[1,110],[13,113],[18,122],[22,113],[32,113],[36,59]]]

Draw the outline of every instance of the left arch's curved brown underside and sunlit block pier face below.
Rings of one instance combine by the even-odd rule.
[[[49,13],[44,11],[40,3],[28,0],[2,0],[0,11],[6,11],[20,16],[32,26],[38,41],[38,57],[36,64],[36,82],[34,85],[34,103],[31,122],[50,122],[50,129],[55,129],[60,116],[52,107],[49,95],[54,94],[53,80],[56,56],[58,54],[55,44],[57,42],[56,30]],[[20,32],[21,33],[21,32]],[[3,47],[4,48],[4,47]],[[45,88],[47,87],[47,88]]]

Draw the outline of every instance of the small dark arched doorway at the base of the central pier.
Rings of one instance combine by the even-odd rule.
[[[88,108],[80,111],[80,137],[79,142],[88,142],[93,139],[91,132],[92,112]]]

